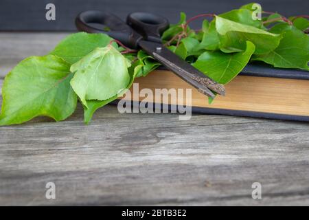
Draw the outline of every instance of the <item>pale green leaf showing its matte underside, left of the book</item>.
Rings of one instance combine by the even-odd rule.
[[[106,100],[126,88],[130,62],[115,47],[98,47],[71,66],[71,86],[87,107],[86,100]]]

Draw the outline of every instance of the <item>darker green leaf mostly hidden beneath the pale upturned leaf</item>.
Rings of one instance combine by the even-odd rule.
[[[132,65],[131,67],[129,67],[128,72],[130,74],[130,83],[126,87],[127,89],[131,87],[131,85],[134,82],[135,77],[137,76],[137,73],[141,70],[142,67],[143,67],[142,65],[136,65],[136,66]],[[104,107],[104,105],[110,102],[113,102],[113,100],[116,100],[117,98],[119,98],[118,94],[111,98],[108,98],[107,100],[103,100],[103,101],[88,100],[87,101],[88,109],[84,107],[84,122],[86,124],[89,124],[89,122],[91,121],[91,118],[93,117],[93,113],[95,113],[95,111],[97,111],[101,107]]]

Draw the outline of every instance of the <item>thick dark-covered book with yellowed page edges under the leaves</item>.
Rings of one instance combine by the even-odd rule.
[[[135,79],[139,91],[152,90],[147,97],[130,96],[132,102],[156,102],[155,89],[192,89],[192,112],[239,115],[279,120],[309,121],[309,72],[278,69],[268,65],[247,65],[230,83],[226,95],[216,96],[209,104],[207,96],[165,69]],[[133,87],[130,88],[132,93]],[[160,104],[173,106],[175,100],[163,97]],[[158,104],[158,103],[157,103]],[[177,103],[176,103],[177,104]],[[155,104],[154,104],[155,106]]]

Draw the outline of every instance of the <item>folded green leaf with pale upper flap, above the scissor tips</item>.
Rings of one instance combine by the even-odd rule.
[[[218,16],[216,16],[216,30],[221,35],[221,48],[244,50],[247,45],[246,41],[251,41],[255,45],[255,54],[271,52],[279,45],[282,39],[282,36],[279,34],[266,32],[265,30]]]

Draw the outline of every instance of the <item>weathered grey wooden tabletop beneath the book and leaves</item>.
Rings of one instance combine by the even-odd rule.
[[[1,33],[1,72],[63,35]],[[20,47],[3,53],[10,43]],[[198,114],[179,121],[113,105],[88,126],[82,117],[79,106],[65,122],[0,127],[0,205],[309,205],[308,123]],[[56,199],[45,198],[49,181]],[[253,182],[262,199],[251,198]]]

